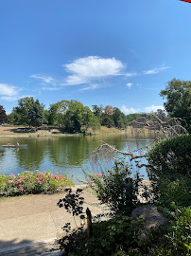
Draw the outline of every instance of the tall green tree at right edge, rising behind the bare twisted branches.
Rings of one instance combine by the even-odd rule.
[[[167,83],[165,90],[161,90],[160,96],[166,101],[164,103],[166,112],[171,118],[181,118],[182,126],[191,132],[191,81],[173,79]]]

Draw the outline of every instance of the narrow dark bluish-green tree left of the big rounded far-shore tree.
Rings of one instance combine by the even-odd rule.
[[[39,100],[35,101],[28,111],[29,124],[39,127],[43,124],[43,104]]]

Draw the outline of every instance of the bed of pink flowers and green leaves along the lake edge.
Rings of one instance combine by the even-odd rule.
[[[28,193],[57,192],[74,182],[67,176],[47,172],[29,172],[9,176],[0,174],[0,196],[14,196]]]

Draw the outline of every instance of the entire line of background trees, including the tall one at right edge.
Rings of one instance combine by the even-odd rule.
[[[58,101],[46,110],[39,100],[26,97],[18,101],[18,105],[8,116],[0,105],[0,123],[34,127],[43,124],[55,125],[63,127],[69,133],[85,133],[88,128],[95,131],[100,125],[125,129],[131,121],[152,120],[157,116],[162,121],[179,118],[182,126],[191,132],[191,81],[173,79],[167,83],[160,95],[166,100],[165,111],[158,109],[156,113],[135,113],[127,116],[111,105],[93,105],[91,110],[81,102],[73,100]]]

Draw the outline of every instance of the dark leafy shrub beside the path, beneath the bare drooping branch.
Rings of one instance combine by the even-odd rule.
[[[130,178],[130,166],[124,159],[116,160],[113,169],[102,174],[85,174],[97,198],[107,204],[113,213],[130,214],[138,205],[138,188],[142,179],[139,174],[134,179]]]

